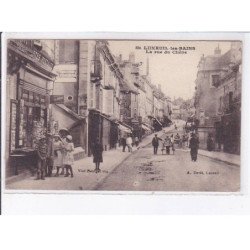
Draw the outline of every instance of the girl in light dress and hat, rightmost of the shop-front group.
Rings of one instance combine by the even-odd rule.
[[[73,151],[74,151],[74,143],[72,141],[72,136],[67,135],[66,136],[66,144],[64,144],[64,149],[65,149],[65,157],[64,157],[64,167],[66,169],[66,174],[64,177],[68,177],[69,175],[73,177],[73,164],[74,164],[74,156],[73,156]],[[69,173],[70,172],[70,173]]]

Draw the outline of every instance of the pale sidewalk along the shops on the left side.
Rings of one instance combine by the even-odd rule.
[[[172,130],[173,127],[165,128],[165,131]],[[162,136],[164,131],[157,132]],[[133,147],[133,152],[140,150],[151,143],[155,133],[145,137],[138,148]],[[127,149],[126,149],[127,150]],[[132,153],[133,153],[132,152]],[[34,180],[34,176],[25,176],[23,178],[13,179],[6,182],[6,189],[19,190],[95,190],[95,187],[104,178],[106,178],[119,164],[126,160],[131,153],[122,152],[122,147],[103,152],[103,163],[101,163],[100,173],[95,173],[95,164],[93,157],[85,157],[82,160],[75,161],[73,166],[74,177],[49,177],[45,180]],[[55,174],[55,170],[53,171]]]

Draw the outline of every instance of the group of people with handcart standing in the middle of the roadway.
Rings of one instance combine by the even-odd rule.
[[[186,139],[186,138],[185,138]],[[165,139],[159,138],[157,134],[155,134],[154,138],[152,139],[152,146],[154,148],[154,154],[157,154],[158,147],[160,145],[160,142],[162,143],[162,153],[164,150],[166,150],[166,154],[170,154],[170,149],[172,149],[173,154],[175,152],[175,143],[178,143],[178,141],[182,141],[183,138],[180,137],[180,135],[177,133],[175,136],[172,134],[171,136],[166,136]],[[191,133],[191,138],[188,142],[189,148],[190,148],[190,155],[192,161],[197,161],[197,154],[198,154],[198,148],[199,148],[199,138],[195,133]]]

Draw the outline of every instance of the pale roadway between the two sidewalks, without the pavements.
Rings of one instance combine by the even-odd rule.
[[[120,164],[96,189],[131,191],[239,191],[240,168],[198,156],[189,150],[175,155],[153,155],[151,145],[137,151]]]

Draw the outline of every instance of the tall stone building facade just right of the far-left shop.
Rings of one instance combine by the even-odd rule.
[[[119,133],[120,86],[123,76],[108,43],[59,40],[57,44],[59,60],[56,72],[59,77],[54,94],[64,95],[63,105],[71,110],[70,113],[74,112],[75,121],[66,127],[72,133],[75,143],[88,155],[97,138],[105,150],[115,147]],[[63,119],[60,120],[62,123]]]

